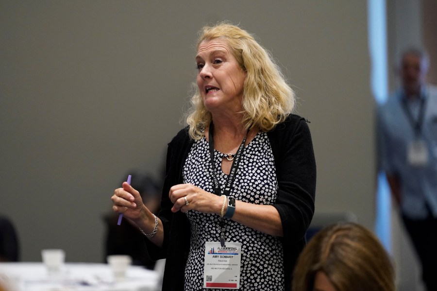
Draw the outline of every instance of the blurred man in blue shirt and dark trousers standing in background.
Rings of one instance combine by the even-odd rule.
[[[420,258],[428,291],[437,290],[437,87],[425,83],[428,55],[403,52],[401,86],[378,110],[379,166]]]

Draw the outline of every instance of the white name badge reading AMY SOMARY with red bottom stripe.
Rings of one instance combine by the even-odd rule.
[[[241,267],[241,243],[205,242],[203,288],[239,289]]]

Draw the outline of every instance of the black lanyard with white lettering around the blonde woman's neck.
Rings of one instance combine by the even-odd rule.
[[[232,162],[231,171],[229,172],[228,178],[226,179],[225,188],[223,190],[223,195],[229,196],[231,193],[231,190],[234,185],[235,176],[238,170],[238,166],[240,165],[240,160],[243,155],[244,151],[244,144],[246,143],[246,138],[249,133],[249,130],[246,133],[246,136],[244,137],[243,141],[241,142],[240,147],[238,148],[234,160]],[[213,170],[213,181],[214,181],[214,193],[218,196],[221,196],[221,188],[220,184],[218,183],[218,179],[216,176],[216,171],[214,170],[214,125],[211,121],[209,124],[209,152],[211,154],[211,165]],[[220,217],[220,244],[222,247],[225,246],[225,222],[222,217]]]

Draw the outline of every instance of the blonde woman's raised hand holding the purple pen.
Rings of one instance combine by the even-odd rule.
[[[123,213],[123,216],[137,221],[144,215],[142,213],[144,204],[140,193],[130,186],[127,182],[123,182],[121,188],[114,190],[114,195],[111,197],[112,209],[115,212]]]

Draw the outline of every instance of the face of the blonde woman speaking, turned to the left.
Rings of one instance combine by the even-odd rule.
[[[197,86],[206,109],[240,111],[246,73],[228,44],[219,38],[202,41],[196,56]]]

